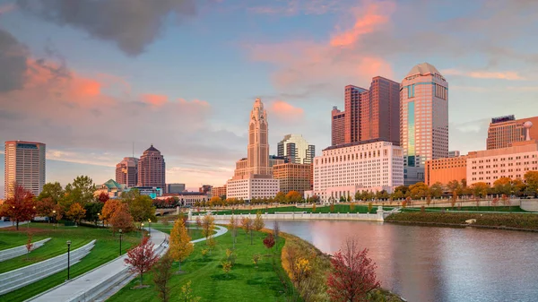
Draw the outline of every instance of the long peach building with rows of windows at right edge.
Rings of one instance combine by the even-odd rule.
[[[467,186],[484,182],[490,186],[500,177],[525,177],[527,171],[538,170],[538,142],[512,142],[511,147],[476,151],[467,158]]]

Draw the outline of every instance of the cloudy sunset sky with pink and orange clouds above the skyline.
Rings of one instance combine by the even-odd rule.
[[[0,0],[0,141],[46,143],[48,182],[102,184],[153,144],[167,183],[222,186],[256,97],[272,153],[302,134],[320,155],[345,85],[428,62],[450,150],[483,150],[491,117],[538,115],[536,20],[534,0]]]

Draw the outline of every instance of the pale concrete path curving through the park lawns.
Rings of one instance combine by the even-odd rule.
[[[217,232],[213,237],[225,234],[228,229],[216,226]],[[160,255],[168,250],[168,235],[157,229],[151,230],[152,243],[157,247]],[[196,239],[191,242],[197,243],[204,241],[205,238]],[[159,247],[161,250],[159,250]],[[83,302],[83,301],[104,301],[111,297],[119,289],[125,286],[130,280],[136,277],[136,274],[128,272],[128,266],[124,259],[126,255],[116,258],[115,260],[103,264],[91,272],[86,272],[74,280],[66,282],[50,289],[37,297],[28,301],[34,302]]]

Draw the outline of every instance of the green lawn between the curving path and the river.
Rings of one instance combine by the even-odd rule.
[[[263,256],[257,268],[252,263],[252,255],[270,254],[262,242],[265,235],[262,232],[255,232],[254,245],[251,246],[250,237],[247,237],[241,229],[238,230],[237,259],[229,276],[222,272],[221,260],[226,256],[226,249],[232,247],[230,232],[215,237],[217,246],[213,250],[213,255],[207,255],[206,259],[200,253],[206,248],[205,242],[195,244],[195,251],[181,265],[185,272],[174,275],[170,280],[172,286],[170,301],[182,301],[181,287],[188,280],[192,281],[195,297],[200,297],[201,301],[286,301],[289,297],[286,297],[284,284],[289,284],[289,279],[283,272],[278,256],[282,247],[278,249],[278,255],[274,258]],[[281,239],[279,246],[283,246],[282,241]],[[178,263],[174,263],[173,269],[178,270]],[[279,279],[279,274],[283,276],[283,282]],[[154,289],[152,273],[144,275],[144,284],[150,285],[149,288],[132,289],[139,282],[139,278],[131,281],[108,301],[160,301]]]

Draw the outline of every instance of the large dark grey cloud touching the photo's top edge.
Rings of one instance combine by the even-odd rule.
[[[198,0],[18,0],[22,11],[112,41],[136,56],[160,34],[169,16],[195,14]]]

